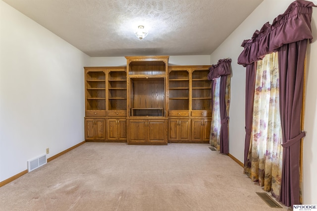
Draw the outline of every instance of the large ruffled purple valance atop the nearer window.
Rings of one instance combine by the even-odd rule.
[[[266,54],[276,52],[284,44],[311,40],[313,6],[316,5],[306,0],[292,2],[272,24],[265,23],[260,31],[256,30],[250,40],[243,41],[241,46],[244,50],[238,58],[238,64],[246,66],[261,60]]]

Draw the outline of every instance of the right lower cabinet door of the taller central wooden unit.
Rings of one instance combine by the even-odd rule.
[[[148,120],[149,137],[151,143],[167,143],[166,120]]]

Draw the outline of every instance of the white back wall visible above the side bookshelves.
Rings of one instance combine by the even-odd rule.
[[[169,65],[210,65],[210,55],[171,55]],[[126,66],[124,56],[91,57],[90,66]]]

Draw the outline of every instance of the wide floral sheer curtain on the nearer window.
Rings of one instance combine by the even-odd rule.
[[[277,53],[258,61],[249,155],[244,172],[279,198],[283,148]]]

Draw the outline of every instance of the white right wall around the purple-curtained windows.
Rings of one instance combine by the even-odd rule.
[[[253,13],[211,54],[211,64],[217,63],[218,59],[232,58],[231,80],[231,104],[229,111],[229,134],[230,154],[244,160],[245,139],[245,68],[237,64],[237,59],[243,48],[243,40],[250,39],[256,29],[260,30],[267,21],[272,23],[279,14],[284,13],[293,0],[264,0]],[[316,0],[314,1],[316,4]],[[314,177],[317,175],[317,8],[313,8],[312,18],[314,42],[307,51],[307,96],[305,106],[305,130],[307,135],[304,139],[303,159],[303,203],[317,204],[317,189]],[[315,153],[315,154],[314,154]]]

